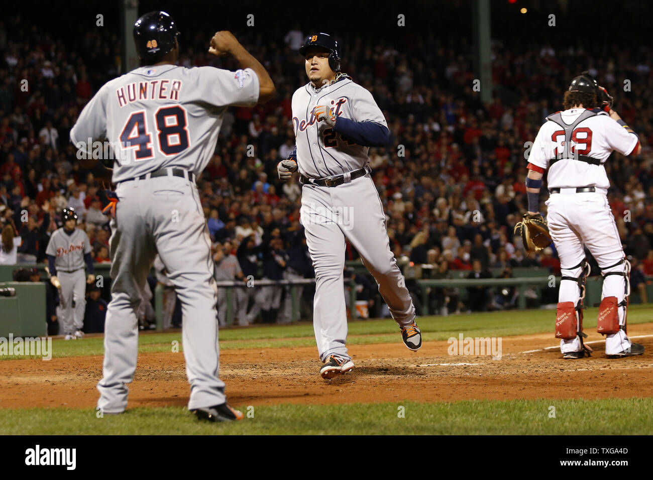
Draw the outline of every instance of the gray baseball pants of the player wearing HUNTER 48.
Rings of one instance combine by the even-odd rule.
[[[98,407],[120,413],[138,355],[136,310],[156,253],[182,302],[183,355],[191,384],[189,409],[223,404],[210,237],[197,187],[185,178],[162,176],[121,182],[111,221],[112,298],[104,329],[103,378]]]

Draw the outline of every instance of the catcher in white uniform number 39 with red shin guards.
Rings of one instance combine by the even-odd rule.
[[[549,168],[547,219],[562,270],[556,338],[561,339],[565,359],[579,359],[591,351],[582,342],[587,273],[583,245],[603,275],[597,331],[607,335],[606,355],[626,357],[644,352],[642,345],[631,343],[626,335],[629,263],[607,201],[610,181],[603,167],[613,150],[638,155],[641,147],[637,135],[611,110],[611,103],[605,89],[583,72],[565,92],[565,110],[547,117],[528,158],[528,214],[539,208],[541,178]]]

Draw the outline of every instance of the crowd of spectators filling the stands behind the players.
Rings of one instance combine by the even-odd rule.
[[[14,16],[0,24],[0,263],[44,262],[48,237],[61,226],[65,206],[82,217],[78,227],[88,232],[93,258],[108,263],[110,232],[99,209],[99,185],[80,170],[69,131],[93,93],[121,74],[118,36],[95,29],[72,46],[21,20]],[[235,69],[229,58],[205,53],[205,37],[183,38],[180,65]],[[306,84],[303,59],[296,54],[303,39],[301,31],[287,27],[265,38],[240,39],[263,61],[278,95],[257,108],[229,109],[214,156],[198,180],[217,280],[313,275],[300,225],[300,187],[296,179],[281,184],[276,178],[276,164],[294,145],[291,97]],[[586,65],[641,138],[639,157],[613,153],[605,166],[612,183],[609,202],[635,272],[633,288],[641,291],[645,276],[653,276],[651,48],[614,46],[597,56],[545,44],[511,53],[494,42],[493,100],[484,104],[471,88],[471,48],[465,42],[449,45],[426,33],[400,53],[389,43],[349,33],[341,44],[343,71],[374,94],[393,136],[392,146],[370,149],[370,167],[387,212],[390,246],[402,266],[430,265],[422,269],[430,278],[447,278],[451,270],[483,278],[491,276],[490,268],[509,276],[511,268],[524,266],[560,274],[554,248],[527,258],[513,228],[526,211],[527,142],[547,114],[562,108],[569,80]],[[631,91],[624,90],[624,79]],[[546,199],[541,195],[543,214]],[[355,259],[348,245],[347,260]],[[594,264],[593,274],[598,271]],[[235,309],[241,325],[255,321],[259,312],[263,321],[291,320],[282,287],[251,296],[236,298],[244,302]],[[310,287],[304,296],[311,297]],[[434,291],[434,298],[450,312],[514,305],[512,291],[507,303],[472,291],[466,305],[456,291]]]

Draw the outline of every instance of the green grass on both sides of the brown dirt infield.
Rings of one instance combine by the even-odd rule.
[[[596,327],[596,308],[586,311],[586,330]],[[527,310],[418,319],[424,340],[465,336],[551,333],[554,312]],[[629,308],[629,325],[650,323],[650,305]],[[225,328],[221,349],[315,346],[310,323]],[[143,334],[139,351],[169,352],[181,332]],[[390,319],[349,323],[348,344],[398,342]],[[543,346],[554,344],[554,339]],[[53,358],[103,355],[103,338],[56,340]],[[29,357],[1,357],[3,360]],[[460,387],[460,386],[458,386]],[[452,385],[452,388],[455,388]],[[370,391],[373,395],[374,391]],[[653,398],[609,400],[462,400],[375,404],[271,406],[234,405],[246,415],[231,424],[201,423],[181,407],[129,408],[123,415],[96,417],[93,409],[0,409],[0,434],[653,434]],[[554,412],[555,416],[552,417]],[[615,421],[618,419],[618,421]]]

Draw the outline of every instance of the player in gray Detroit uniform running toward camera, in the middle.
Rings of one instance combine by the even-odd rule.
[[[293,95],[295,150],[277,169],[281,180],[299,172],[300,216],[315,267],[313,327],[320,374],[331,379],[354,367],[345,346],[345,238],[376,279],[404,344],[416,351],[422,336],[368,167],[369,147],[389,143],[383,113],[369,91],[340,71],[338,42],[330,35],[310,35],[299,53],[310,82]]]

